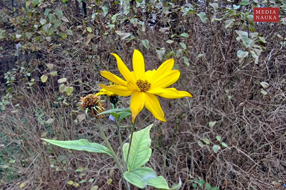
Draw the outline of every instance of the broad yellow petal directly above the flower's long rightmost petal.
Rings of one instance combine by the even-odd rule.
[[[172,84],[174,84],[180,77],[180,71],[179,70],[172,70],[168,71],[167,73],[164,73],[161,76],[158,76],[153,81],[150,81],[151,83],[151,89],[153,88],[166,88]],[[150,90],[151,90],[150,89]]]

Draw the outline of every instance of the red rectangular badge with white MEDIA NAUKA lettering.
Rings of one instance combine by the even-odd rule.
[[[254,7],[253,22],[279,22],[279,8]]]

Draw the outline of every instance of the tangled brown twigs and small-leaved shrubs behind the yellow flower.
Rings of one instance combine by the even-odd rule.
[[[279,7],[280,22],[253,23],[257,6]],[[283,188],[283,1],[1,0],[0,9],[1,189],[123,188],[106,155],[39,138],[103,142],[77,102],[108,83],[99,71],[118,74],[110,53],[131,68],[133,49],[148,70],[174,58],[174,87],[194,95],[160,98],[166,123],[140,113],[137,130],[155,123],[148,165],[170,184],[180,177],[182,189],[195,178],[219,189]],[[120,100],[128,107],[128,97]],[[118,148],[116,127],[107,118],[103,125]],[[123,122],[124,139],[130,127]]]

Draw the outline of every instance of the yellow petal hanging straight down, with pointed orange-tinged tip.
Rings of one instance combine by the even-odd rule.
[[[134,123],[136,116],[143,109],[145,102],[145,93],[135,91],[130,100],[130,109],[132,112],[132,122]]]

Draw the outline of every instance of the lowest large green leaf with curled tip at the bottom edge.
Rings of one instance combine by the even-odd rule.
[[[136,168],[131,171],[127,171],[123,176],[127,181],[129,181],[129,183],[141,189],[150,185],[160,190],[178,190],[182,185],[180,179],[178,185],[173,188],[169,188],[166,179],[164,179],[163,176],[156,176],[154,170],[148,167]]]

